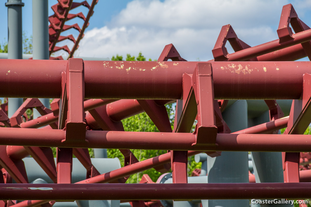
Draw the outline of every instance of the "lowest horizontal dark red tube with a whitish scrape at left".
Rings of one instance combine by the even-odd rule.
[[[1,200],[305,199],[311,183],[0,184]]]

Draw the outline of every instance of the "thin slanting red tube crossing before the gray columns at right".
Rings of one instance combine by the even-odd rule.
[[[281,119],[276,119],[267,123],[259,124],[257,126],[242,129],[240,131],[234,132],[232,134],[263,134],[270,133],[275,130],[279,130],[287,127],[289,116],[283,117]]]

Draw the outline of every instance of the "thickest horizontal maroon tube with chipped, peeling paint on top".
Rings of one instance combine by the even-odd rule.
[[[299,99],[302,75],[311,73],[310,62],[210,63],[215,99]],[[67,61],[2,59],[0,64],[0,96],[60,97],[61,72]],[[185,61],[84,61],[85,97],[180,99],[183,73],[192,74],[196,65]]]

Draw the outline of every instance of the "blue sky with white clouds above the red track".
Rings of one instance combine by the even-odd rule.
[[[81,1],[81,0],[80,0]],[[0,1],[0,43],[7,40],[7,8]],[[32,1],[24,0],[23,30],[32,34]],[[91,0],[88,0],[91,3]],[[50,7],[57,0],[49,0]],[[99,0],[75,56],[110,57],[142,52],[157,59],[164,46],[173,43],[188,61],[212,59],[220,29],[231,24],[238,37],[250,46],[277,39],[282,6],[292,3],[299,18],[311,26],[310,0]],[[72,13],[86,9],[78,7]],[[82,21],[77,18],[67,24]],[[62,35],[73,34],[67,31]],[[70,42],[58,43],[58,45]],[[232,52],[230,46],[228,51]]]

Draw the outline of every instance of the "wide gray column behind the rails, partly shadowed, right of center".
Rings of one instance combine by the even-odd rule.
[[[232,132],[247,128],[247,102],[234,102],[222,116]],[[218,157],[207,156],[207,176],[208,183],[248,182],[248,153],[222,152]],[[249,200],[202,200],[202,206],[248,207]]]

